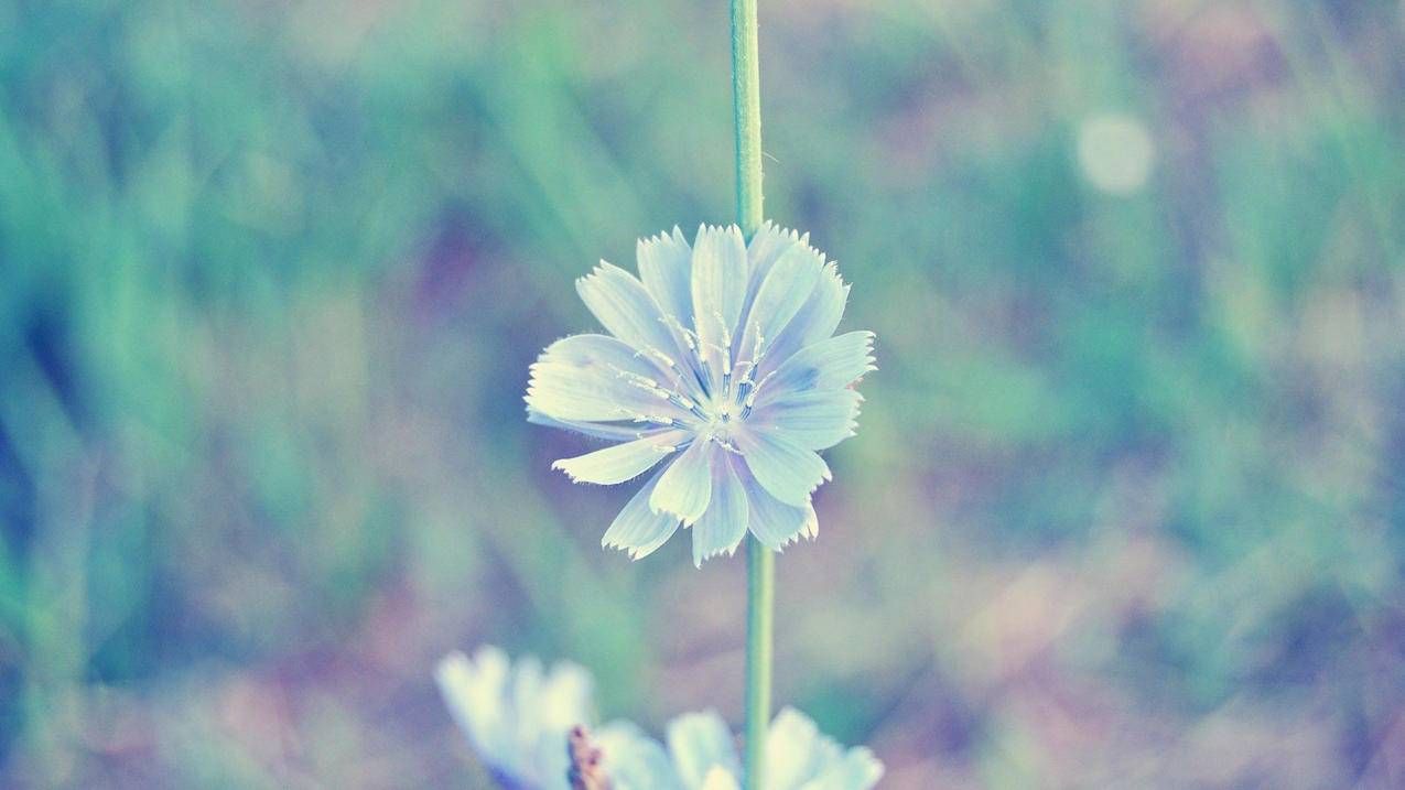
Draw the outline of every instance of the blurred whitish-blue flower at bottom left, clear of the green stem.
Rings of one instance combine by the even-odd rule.
[[[444,704],[499,784],[517,790],[569,790],[572,727],[590,720],[593,682],[575,663],[524,658],[511,665],[496,647],[469,659],[444,656],[434,671]]]

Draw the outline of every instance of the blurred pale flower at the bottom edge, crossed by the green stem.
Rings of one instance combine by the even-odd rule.
[[[667,727],[667,751],[629,723],[600,730],[594,744],[613,790],[739,790],[736,739],[714,711]],[[767,790],[868,790],[882,763],[864,746],[844,749],[805,714],[784,708],[766,734]]]

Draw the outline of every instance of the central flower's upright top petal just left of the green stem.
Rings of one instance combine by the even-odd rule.
[[[700,228],[693,242],[693,322],[704,346],[729,346],[746,299],[746,242],[736,226]]]

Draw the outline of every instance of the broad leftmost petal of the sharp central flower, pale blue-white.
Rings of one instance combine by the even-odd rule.
[[[556,340],[531,365],[527,406],[568,422],[686,419],[660,384],[660,373],[622,340],[604,335],[576,335]]]

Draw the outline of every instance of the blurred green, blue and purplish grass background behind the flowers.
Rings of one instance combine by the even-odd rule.
[[[777,701],[896,789],[1405,787],[1405,8],[763,1],[878,333]],[[739,724],[599,547],[572,281],[732,218],[726,3],[0,1],[0,786],[479,787],[482,642]]]

